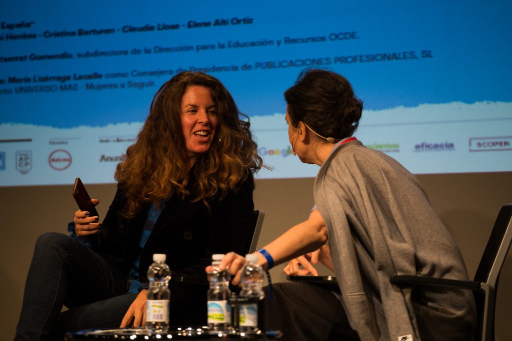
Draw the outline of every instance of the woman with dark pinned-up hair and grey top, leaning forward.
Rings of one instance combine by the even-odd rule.
[[[294,340],[471,340],[471,292],[413,294],[389,281],[392,275],[466,280],[467,272],[416,178],[352,137],[362,102],[350,83],[333,72],[307,70],[285,99],[294,152],[321,168],[310,218],[265,246],[260,264],[298,256],[285,272],[315,275],[308,260],[321,261],[335,272],[341,294],[336,300],[328,289],[313,285],[275,285],[267,327],[282,329]],[[307,259],[300,256],[307,253],[312,253]],[[222,265],[231,265],[230,272],[237,274],[243,262],[228,256]]]

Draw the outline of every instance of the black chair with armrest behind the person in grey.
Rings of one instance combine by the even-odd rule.
[[[490,233],[487,246],[473,281],[459,281],[423,276],[391,276],[397,286],[435,286],[473,290],[477,305],[479,338],[494,341],[494,314],[500,271],[512,242],[512,203],[503,206]]]

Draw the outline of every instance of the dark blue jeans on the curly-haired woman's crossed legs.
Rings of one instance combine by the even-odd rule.
[[[136,297],[126,294],[126,274],[87,246],[45,233],[36,241],[15,340],[62,340],[66,331],[119,327]]]

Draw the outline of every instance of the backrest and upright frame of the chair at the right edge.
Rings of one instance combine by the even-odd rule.
[[[500,271],[512,242],[512,203],[504,205],[496,222],[485,251],[475,272],[475,282],[480,282],[481,291],[474,291],[479,320],[480,340],[494,340],[494,312],[496,290]]]

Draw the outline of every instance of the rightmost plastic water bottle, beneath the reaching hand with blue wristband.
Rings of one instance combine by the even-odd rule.
[[[245,255],[247,264],[242,270],[242,290],[239,294],[240,332],[256,332],[263,329],[263,300],[262,290],[265,271],[258,265],[258,255]]]

